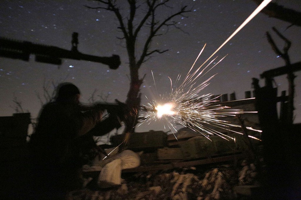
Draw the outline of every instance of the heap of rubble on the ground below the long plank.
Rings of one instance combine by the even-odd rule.
[[[86,188],[70,192],[68,200],[235,199],[234,186],[255,178],[253,164],[234,168],[229,165],[191,167],[156,172],[122,174],[121,185],[107,189]],[[249,181],[247,181],[249,180]],[[93,182],[93,181],[91,181]]]

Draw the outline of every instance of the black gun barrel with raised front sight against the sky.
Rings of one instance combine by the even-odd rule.
[[[120,65],[119,55],[112,55],[111,57],[100,57],[95,55],[83,54],[77,50],[78,33],[72,34],[72,48],[71,50],[62,49],[55,46],[47,46],[41,44],[34,44],[28,41],[15,41],[0,37],[0,56],[13,59],[21,59],[29,61],[29,55],[35,55],[35,61],[62,64],[63,58],[74,60],[86,60],[106,64],[110,69],[117,69]]]

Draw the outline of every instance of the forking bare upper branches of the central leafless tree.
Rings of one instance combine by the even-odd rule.
[[[179,30],[182,30],[181,28],[176,26],[176,22],[168,23],[172,18],[175,16],[183,16],[183,13],[190,12],[190,10],[187,10],[187,6],[182,6],[181,9],[176,12],[171,14],[170,16],[167,16],[161,23],[160,21],[155,19],[155,13],[156,10],[162,6],[171,8],[167,3],[170,0],[146,0],[146,5],[147,5],[147,10],[144,13],[144,16],[142,17],[141,21],[138,23],[138,25],[135,27],[133,22],[135,19],[135,14],[136,10],[139,8],[139,5],[136,4],[135,0],[128,0],[129,4],[129,18],[127,19],[127,28],[125,25],[125,22],[123,21],[123,17],[121,16],[121,13],[119,12],[119,8],[116,4],[116,1],[112,0],[98,0],[100,5],[98,7],[91,7],[91,6],[85,6],[90,9],[104,9],[104,10],[109,10],[113,11],[115,13],[115,16],[118,19],[119,22],[119,27],[123,32],[124,37],[118,37],[118,39],[125,39],[126,40],[126,47],[128,50],[128,54],[131,57],[130,60],[135,61],[135,43],[137,41],[138,33],[141,31],[141,28],[144,25],[149,25],[150,31],[149,31],[149,37],[146,39],[144,43],[144,47],[142,49],[140,58],[137,62],[135,62],[135,66],[140,66],[144,61],[145,57],[151,55],[154,52],[166,52],[166,50],[162,51],[159,49],[152,50],[151,52],[148,52],[150,48],[150,44],[152,42],[152,39],[156,36],[160,36],[162,34],[157,34],[157,32],[163,27],[169,27],[169,26],[174,26],[175,28],[178,28]],[[147,20],[150,19],[150,23],[146,23]],[[135,27],[135,28],[134,28]],[[184,32],[184,31],[183,31]],[[139,68],[139,67],[138,67]]]

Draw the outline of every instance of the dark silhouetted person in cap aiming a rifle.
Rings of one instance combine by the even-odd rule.
[[[59,85],[54,102],[43,106],[29,147],[32,152],[34,195],[40,199],[64,198],[82,187],[79,177],[80,137],[101,121],[103,109],[82,111],[80,91],[72,83]]]

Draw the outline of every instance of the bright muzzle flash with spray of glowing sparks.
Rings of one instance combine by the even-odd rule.
[[[203,49],[200,54],[203,52]],[[232,131],[232,127],[241,127],[238,124],[222,120],[221,118],[236,116],[246,112],[222,106],[218,103],[218,100],[216,100],[217,97],[213,97],[212,94],[201,94],[202,90],[209,85],[209,81],[214,77],[214,75],[203,81],[201,84],[198,84],[198,82],[206,73],[208,73],[209,70],[223,59],[222,58],[216,62],[216,64],[213,64],[213,61],[215,61],[216,58],[206,66],[204,66],[205,63],[203,63],[197,70],[191,73],[194,64],[197,61],[196,59],[182,84],[174,90],[171,87],[170,93],[166,96],[160,95],[160,99],[151,100],[147,103],[147,105],[144,105],[145,114],[141,115],[143,118],[141,124],[145,122],[151,123],[152,121],[164,120],[164,127],[169,127],[169,129],[172,130],[172,133],[177,131],[176,124],[181,124],[184,127],[189,127],[190,129],[203,134],[203,136],[208,139],[208,136],[210,135],[218,135],[225,139],[229,137],[217,131],[216,128]],[[177,84],[179,80],[180,75],[176,80]],[[172,85],[172,80],[170,79],[170,81]],[[251,127],[248,127],[248,129],[254,130]],[[239,133],[236,131],[232,132]]]

